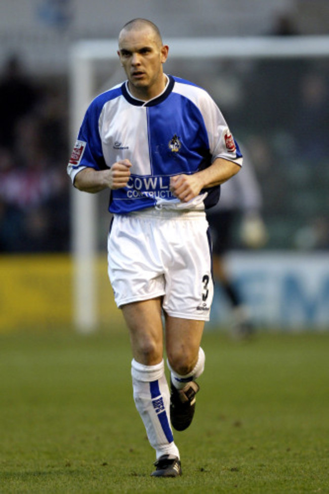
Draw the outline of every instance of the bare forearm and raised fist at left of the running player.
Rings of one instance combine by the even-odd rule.
[[[96,193],[104,189],[126,187],[130,178],[132,163],[129,159],[116,161],[108,170],[84,168],[74,179],[74,186],[84,192]]]

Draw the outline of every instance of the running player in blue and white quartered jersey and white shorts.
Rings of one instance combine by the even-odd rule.
[[[204,368],[200,342],[213,298],[204,210],[242,164],[208,93],[163,73],[168,50],[150,21],[122,28],[128,80],[91,103],[68,166],[79,190],[110,189],[108,272],[130,331],[134,399],[156,452],[152,475],[160,477],[181,474],[171,426],[190,425]]]

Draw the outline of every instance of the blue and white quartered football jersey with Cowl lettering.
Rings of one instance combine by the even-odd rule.
[[[170,177],[193,174],[222,157],[242,165],[242,155],[218,106],[203,89],[168,76],[165,90],[147,102],[134,98],[127,81],[97,96],[81,125],[68,174],[72,182],[86,167],[110,168],[129,159],[125,188],[111,190],[109,211],[145,208],[204,209],[216,204],[220,186],[181,202]]]

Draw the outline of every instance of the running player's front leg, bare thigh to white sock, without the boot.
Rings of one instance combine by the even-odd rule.
[[[179,458],[170,425],[170,392],[163,362],[161,299],[122,307],[129,327],[133,361],[132,378],[136,408],[156,459]]]

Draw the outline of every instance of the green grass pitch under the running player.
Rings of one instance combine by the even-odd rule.
[[[329,492],[329,333],[208,330],[183,475],[151,478],[125,328],[0,335],[0,492]]]

